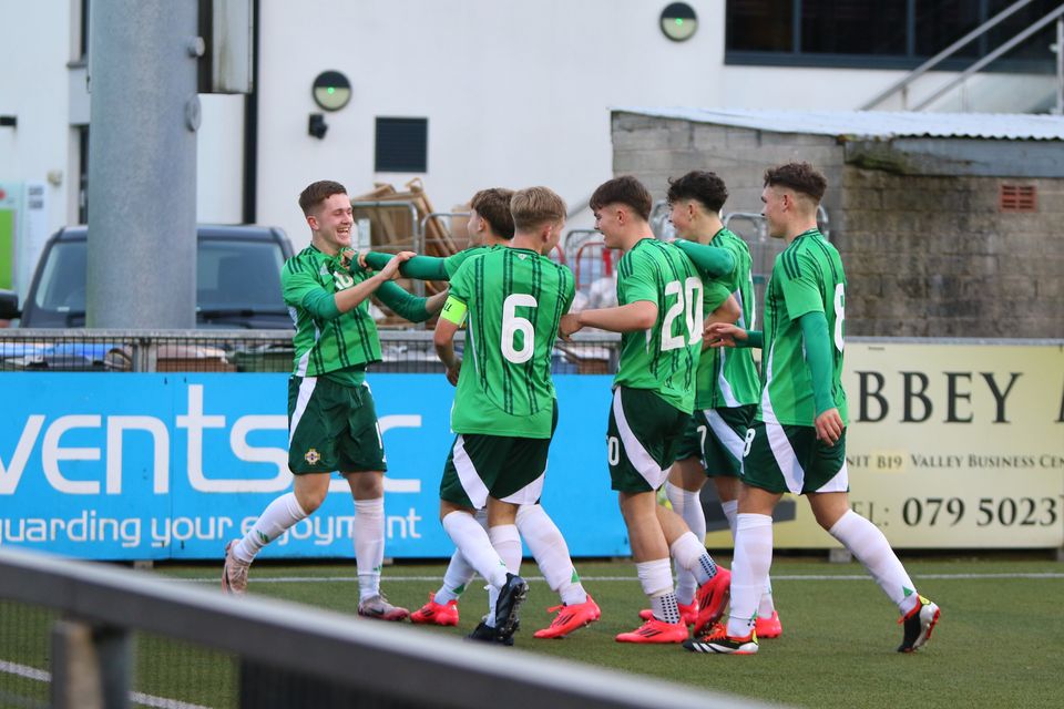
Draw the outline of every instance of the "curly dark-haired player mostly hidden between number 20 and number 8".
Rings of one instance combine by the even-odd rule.
[[[693,171],[669,181],[669,219],[681,239],[677,246],[693,250],[697,245],[724,248],[735,257],[735,270],[723,279],[706,282],[706,312],[712,310],[710,292],[723,287],[732,298],[722,307],[717,322],[738,323],[744,329],[755,327],[754,280],[750,275],[750,250],[746,243],[720,222],[720,210],[728,198],[728,188],[715,173]],[[706,480],[713,480],[717,499],[735,537],[735,517],[739,506],[739,473],[743,470],[743,449],[746,431],[754,420],[758,394],[757,368],[749,349],[708,349],[703,343],[702,359],[695,390],[695,411],[684,433],[676,462],[668,472],[665,492],[669,503],[690,531],[699,538],[706,534],[706,516],[702,508],[700,491]],[[682,568],[676,569],[676,599],[681,613],[697,619],[694,605],[695,579]],[[757,608],[757,637],[778,637],[782,628],[773,604],[771,587],[766,588]]]

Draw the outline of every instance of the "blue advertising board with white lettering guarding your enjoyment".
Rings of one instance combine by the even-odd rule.
[[[217,558],[277,495],[286,374],[0,373],[0,545],[94,559]],[[454,389],[439,374],[369,378],[388,456],[386,554],[446,557],[439,480]],[[543,505],[574,556],[628,554],[610,490],[610,377],[557,376]],[[268,557],[351,557],[355,508],[326,502]]]

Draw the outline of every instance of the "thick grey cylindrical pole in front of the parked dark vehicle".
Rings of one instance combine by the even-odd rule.
[[[90,8],[91,328],[193,328],[198,3]]]

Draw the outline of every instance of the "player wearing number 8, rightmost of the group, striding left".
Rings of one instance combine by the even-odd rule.
[[[761,392],[746,435],[736,521],[732,609],[685,647],[699,653],[757,651],[758,599],[773,563],[773,510],[784,493],[806,495],[817,522],[869,571],[901,613],[900,653],[931,636],[939,607],[917,593],[890,543],[850,508],[842,390],[846,275],[835,247],[817,227],[827,188],[808,163],[765,173],[763,214],[769,235],[787,247],[776,257],[765,295],[764,332],[735,325],[708,329],[714,346],[763,347]]]

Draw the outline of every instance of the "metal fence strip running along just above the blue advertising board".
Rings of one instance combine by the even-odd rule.
[[[459,347],[464,338],[457,338]],[[555,373],[613,373],[620,337],[579,332],[554,349]],[[432,332],[382,330],[374,372],[442,372]],[[0,371],[290,372],[290,330],[0,329]]]

